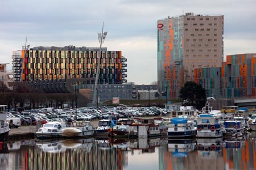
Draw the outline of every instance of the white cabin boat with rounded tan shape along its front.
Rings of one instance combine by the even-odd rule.
[[[67,125],[68,128],[61,130],[63,137],[91,137],[94,133],[90,121],[73,121]]]

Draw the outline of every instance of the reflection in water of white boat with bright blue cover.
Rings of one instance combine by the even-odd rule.
[[[195,139],[168,140],[168,151],[176,158],[187,157],[187,153],[195,150]]]

